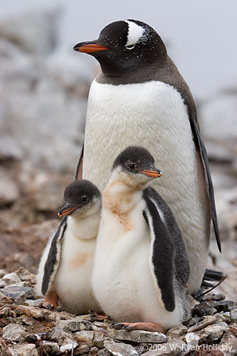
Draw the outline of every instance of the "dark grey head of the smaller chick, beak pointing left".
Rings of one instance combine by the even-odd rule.
[[[101,209],[102,198],[95,184],[80,179],[65,187],[64,202],[65,205],[58,211],[58,216],[73,215],[80,218],[97,214]]]

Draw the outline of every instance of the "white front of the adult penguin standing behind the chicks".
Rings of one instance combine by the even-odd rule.
[[[181,95],[162,82],[107,85],[93,81],[85,125],[83,178],[100,190],[127,146],[146,147],[162,177],[152,183],[171,207],[191,265],[189,291],[199,288],[209,250],[210,212],[204,174]]]

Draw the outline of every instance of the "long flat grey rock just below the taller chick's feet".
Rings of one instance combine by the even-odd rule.
[[[111,330],[108,335],[116,340],[127,340],[132,342],[166,342],[167,337],[162,333],[152,333],[144,330]]]

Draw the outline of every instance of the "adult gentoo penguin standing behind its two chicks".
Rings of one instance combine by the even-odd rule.
[[[209,253],[210,223],[218,235],[214,189],[194,98],[146,23],[117,21],[75,51],[94,56],[101,71],[90,87],[84,157],[77,173],[104,189],[114,157],[129,145],[154,152],[164,179],[154,182],[181,228],[189,256],[189,292],[199,289]],[[83,163],[83,167],[82,167]],[[103,167],[103,169],[101,169]]]

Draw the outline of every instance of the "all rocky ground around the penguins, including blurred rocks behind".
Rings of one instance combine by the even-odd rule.
[[[235,350],[236,304],[220,295],[210,296],[191,320],[167,335],[128,333],[115,330],[109,320],[92,322],[90,315],[41,308],[31,273],[36,273],[43,247],[59,222],[63,190],[73,180],[88,90],[97,71],[88,56],[58,49],[58,16],[58,10],[48,10],[0,23],[0,355],[80,355],[89,350],[99,355],[185,355],[189,345],[213,344]],[[223,250],[218,253],[211,241],[209,267],[226,274],[218,293],[228,300],[237,295],[236,88],[198,103]],[[172,353],[176,342],[185,350]],[[189,354],[207,352],[236,355],[201,348]]]

